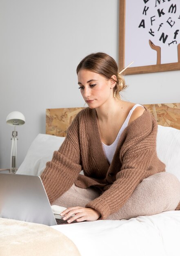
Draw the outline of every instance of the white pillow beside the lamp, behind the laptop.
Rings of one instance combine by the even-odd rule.
[[[40,176],[46,163],[51,161],[53,152],[60,148],[64,139],[65,137],[38,134],[16,173]]]

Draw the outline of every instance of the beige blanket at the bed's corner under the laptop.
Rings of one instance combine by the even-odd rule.
[[[0,256],[80,256],[61,232],[42,224],[0,218]]]

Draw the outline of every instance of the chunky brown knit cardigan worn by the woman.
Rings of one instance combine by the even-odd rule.
[[[102,148],[96,109],[78,113],[41,175],[50,203],[73,183],[81,188],[96,186],[102,193],[86,207],[98,210],[103,220],[122,207],[144,178],[165,171],[156,153],[158,124],[144,108],[122,132],[111,165]]]

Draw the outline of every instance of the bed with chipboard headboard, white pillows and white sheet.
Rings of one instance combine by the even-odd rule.
[[[158,157],[166,164],[166,171],[180,180],[180,103],[144,106],[158,122]],[[82,108],[47,109],[46,134],[39,134],[34,139],[17,173],[39,176],[46,162],[51,160],[53,151],[58,150],[64,141],[68,126],[80,110]],[[165,211],[129,220],[79,222],[51,228],[69,238],[81,256],[179,254],[180,211]],[[58,253],[51,255],[64,255]],[[66,255],[75,255],[75,252],[72,250],[71,254],[67,252]]]

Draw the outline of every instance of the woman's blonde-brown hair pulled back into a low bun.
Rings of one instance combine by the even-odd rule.
[[[117,99],[120,99],[120,92],[127,88],[124,77],[118,72],[116,61],[104,52],[89,54],[83,58],[76,68],[76,73],[78,74],[81,69],[90,70],[104,76],[108,80],[112,79],[116,81],[116,85],[113,88],[113,95],[115,93]],[[111,78],[113,75],[116,76],[116,80]]]

